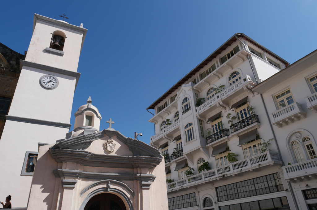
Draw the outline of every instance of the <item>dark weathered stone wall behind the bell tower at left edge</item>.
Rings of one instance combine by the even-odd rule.
[[[25,55],[17,53],[0,43],[0,97],[13,98],[21,72],[20,59],[24,60]],[[0,138],[6,121],[6,114],[0,114]]]

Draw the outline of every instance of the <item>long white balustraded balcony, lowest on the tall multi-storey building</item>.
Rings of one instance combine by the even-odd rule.
[[[242,161],[230,163],[224,167],[212,169],[204,173],[167,184],[167,191],[204,184],[208,181],[223,179],[228,175],[241,174],[250,170],[259,170],[257,168],[272,164],[279,165],[282,164],[282,162],[279,161],[278,153],[266,151],[265,153],[246,158]]]

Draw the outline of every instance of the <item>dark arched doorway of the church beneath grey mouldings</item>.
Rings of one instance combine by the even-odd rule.
[[[101,193],[92,197],[84,210],[126,210],[126,205],[115,194]]]

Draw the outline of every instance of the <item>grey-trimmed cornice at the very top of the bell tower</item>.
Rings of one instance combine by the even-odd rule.
[[[43,22],[46,22],[46,23],[58,25],[58,26],[61,26],[61,27],[67,28],[67,29],[71,29],[71,30],[75,30],[75,31],[81,32],[82,33],[81,49],[82,49],[82,45],[84,44],[84,41],[85,41],[87,29],[84,29],[84,28],[81,28],[79,26],[75,26],[75,25],[72,25],[72,24],[69,24],[69,23],[66,23],[66,22],[63,22],[63,21],[59,21],[59,20],[55,20],[55,19],[52,19],[52,18],[49,18],[49,17],[45,17],[45,16],[42,16],[42,15],[34,14],[33,31],[35,29],[36,20],[40,20],[40,21],[43,21]],[[33,33],[33,31],[32,31],[32,33]],[[81,49],[80,49],[80,51],[81,51]]]

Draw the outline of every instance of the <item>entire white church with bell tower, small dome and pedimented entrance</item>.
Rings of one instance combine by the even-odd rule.
[[[82,24],[34,15],[0,141],[0,197],[11,194],[21,210],[167,209],[157,149],[111,128],[111,119],[100,131],[90,97],[69,132],[86,33]]]

